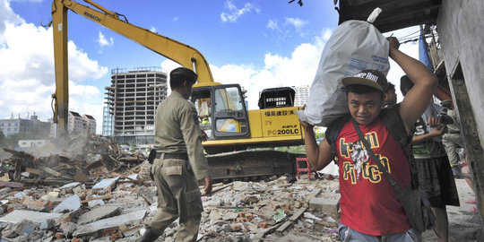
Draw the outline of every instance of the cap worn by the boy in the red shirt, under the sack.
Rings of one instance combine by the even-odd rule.
[[[372,87],[382,92],[385,92],[388,86],[385,74],[376,70],[363,70],[353,76],[343,77],[341,83],[345,87],[357,84]]]

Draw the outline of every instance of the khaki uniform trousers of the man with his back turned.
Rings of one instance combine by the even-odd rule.
[[[158,188],[158,212],[148,226],[160,236],[179,218],[175,241],[196,241],[203,212],[198,183],[187,170],[187,160],[162,158],[154,160],[151,167]]]

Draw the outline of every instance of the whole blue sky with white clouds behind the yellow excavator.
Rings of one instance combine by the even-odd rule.
[[[297,1],[288,2],[97,1],[110,11],[124,14],[134,25],[198,49],[211,65],[216,82],[237,82],[246,88],[249,108],[256,108],[258,92],[264,88],[310,85],[324,43],[337,27],[333,1],[303,1],[302,7]],[[34,112],[44,121],[52,117],[52,28],[41,26],[52,19],[51,4],[0,0],[1,118],[12,113],[25,118]],[[395,36],[412,31],[401,30]],[[68,13],[68,39],[70,109],[95,117],[98,134],[104,87],[110,84],[112,69],[161,66],[169,72],[177,66],[73,12]],[[415,56],[416,48],[402,46],[411,56]],[[396,66],[389,79],[400,75],[402,71]]]

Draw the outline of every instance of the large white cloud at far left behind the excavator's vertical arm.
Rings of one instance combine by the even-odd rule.
[[[0,0],[0,117],[27,117],[35,112],[47,121],[53,116],[51,94],[56,90],[52,28],[35,26],[13,13]],[[35,39],[35,41],[32,41]],[[81,82],[99,79],[108,68],[68,42],[70,110],[91,114],[102,123],[102,94]],[[100,134],[101,130],[98,130]]]

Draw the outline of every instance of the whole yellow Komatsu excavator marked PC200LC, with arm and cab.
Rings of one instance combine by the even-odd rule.
[[[194,70],[198,82],[191,101],[202,118],[209,139],[203,142],[213,178],[261,177],[294,173],[298,154],[280,151],[247,151],[250,148],[303,144],[303,133],[294,107],[295,91],[272,88],[260,92],[259,109],[247,110],[244,92],[238,84],[214,82],[210,67],[195,48],[135,26],[125,15],[84,0],[90,6],[71,0],[54,0],[52,24],[56,92],[54,122],[58,134],[66,134],[68,114],[67,13],[82,15],[134,42]],[[94,9],[94,8],[96,9]]]

